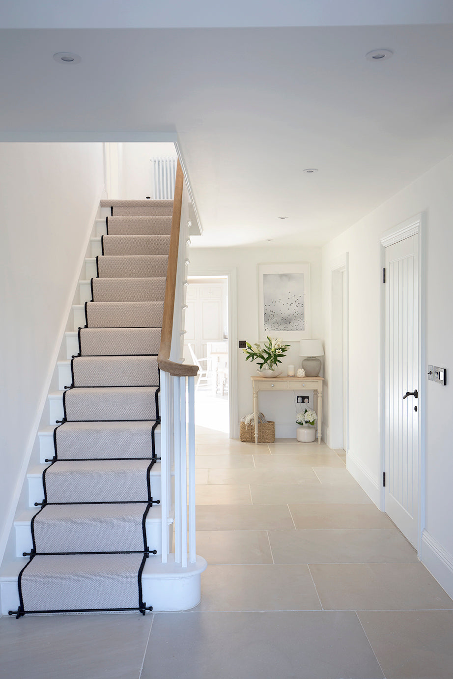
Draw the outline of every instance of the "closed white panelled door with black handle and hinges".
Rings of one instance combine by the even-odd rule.
[[[417,547],[418,236],[385,253],[385,511]]]

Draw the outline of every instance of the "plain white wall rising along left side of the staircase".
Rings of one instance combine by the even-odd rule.
[[[102,144],[0,144],[0,557],[103,187]]]

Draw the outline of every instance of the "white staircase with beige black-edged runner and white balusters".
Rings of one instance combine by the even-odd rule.
[[[175,426],[172,416],[178,408],[168,400],[171,392],[174,401],[172,380],[183,380],[180,401],[185,404],[186,375],[190,393],[194,368],[170,360],[171,340],[162,340],[170,344],[167,350],[161,344],[164,299],[166,326],[168,318],[170,326],[173,316],[181,318],[181,309],[174,308],[175,291],[170,293],[167,285],[169,274],[175,278],[178,259],[180,268],[184,261],[185,253],[178,252],[181,241],[185,250],[180,217],[175,230],[169,200],[101,205],[110,214],[97,225],[104,233],[92,239],[91,254],[101,251],[86,260],[86,270],[95,275],[89,285],[84,280],[79,284],[82,304],[74,306],[75,327],[65,337],[68,355],[76,355],[59,362],[61,392],[49,394],[50,424],[53,420],[58,426],[39,432],[41,463],[51,464],[42,472],[32,467],[27,475],[29,506],[40,509],[33,517],[30,510],[16,517],[16,558],[0,576],[3,614],[145,614],[183,610],[200,600],[206,562],[194,551],[193,497],[187,559],[185,408],[178,414],[183,421]],[[170,327],[170,337],[173,333],[179,340],[179,328]],[[173,354],[178,353],[174,347]],[[162,441],[161,376],[166,385]],[[172,430],[179,430],[176,443]],[[193,491],[192,468],[189,460]],[[179,537],[173,553],[175,514]]]

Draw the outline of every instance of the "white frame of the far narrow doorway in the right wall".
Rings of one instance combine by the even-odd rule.
[[[338,402],[338,399],[343,400],[343,384],[337,384],[336,381],[333,378],[333,352],[332,352],[332,347],[333,347],[333,342],[334,342],[334,337],[333,337],[333,294],[334,294],[334,288],[333,288],[333,276],[336,272],[344,272],[345,274],[345,285],[346,285],[346,403],[343,403],[343,407],[346,408],[346,421],[347,421],[347,432],[346,432],[346,449],[349,448],[349,254],[348,253],[343,253],[339,257],[336,257],[335,259],[332,259],[330,264],[329,264],[329,270],[330,270],[330,297],[329,297],[329,318],[330,318],[330,337],[329,337],[329,350],[330,350],[330,356],[329,356],[329,388],[327,390],[327,401],[329,404],[329,428],[328,428],[328,433],[329,436],[327,439],[324,439],[327,442],[327,445],[331,448],[340,448],[343,445],[343,439],[342,439],[342,445],[335,445],[338,442],[338,439],[340,438],[338,435],[338,431],[333,430],[333,418],[332,418],[332,412],[333,412],[333,405],[334,403]],[[342,318],[342,324],[343,324],[343,318]],[[344,329],[342,328],[342,331],[344,332]],[[341,359],[343,363],[343,356]],[[343,422],[341,422],[341,428],[343,430]],[[327,433],[326,433],[327,434]]]

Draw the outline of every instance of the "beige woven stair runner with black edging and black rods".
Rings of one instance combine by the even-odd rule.
[[[152,610],[141,573],[159,422],[157,354],[173,201],[110,205],[54,458],[18,579],[25,613]]]

